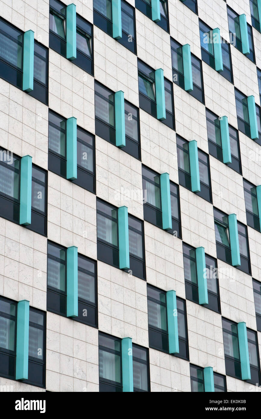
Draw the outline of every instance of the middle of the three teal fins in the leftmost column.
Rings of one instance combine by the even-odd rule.
[[[20,221],[21,225],[31,224],[32,201],[32,158],[27,155],[21,158],[20,178]]]

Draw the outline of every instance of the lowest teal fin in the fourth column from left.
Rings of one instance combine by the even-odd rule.
[[[178,354],[178,312],[176,291],[167,291],[168,349],[170,354]]]

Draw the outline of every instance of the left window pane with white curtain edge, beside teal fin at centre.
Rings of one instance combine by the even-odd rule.
[[[144,166],[142,166],[142,189],[144,220],[162,228],[160,175]]]

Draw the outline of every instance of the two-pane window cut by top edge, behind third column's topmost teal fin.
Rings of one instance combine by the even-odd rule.
[[[113,36],[112,0],[93,0],[93,23]],[[137,54],[135,9],[121,0],[121,38],[117,41]]]

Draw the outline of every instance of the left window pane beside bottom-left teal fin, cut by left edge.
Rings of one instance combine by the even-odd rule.
[[[0,297],[0,376],[16,377],[17,303]]]

